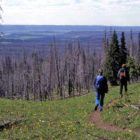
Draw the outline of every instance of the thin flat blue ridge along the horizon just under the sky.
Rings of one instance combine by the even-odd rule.
[[[1,31],[140,31],[140,26],[3,25]]]

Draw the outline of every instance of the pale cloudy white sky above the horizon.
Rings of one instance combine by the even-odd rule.
[[[140,0],[2,0],[3,24],[140,26]]]

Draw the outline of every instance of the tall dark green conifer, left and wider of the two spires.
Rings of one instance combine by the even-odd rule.
[[[104,71],[111,85],[117,84],[117,73],[120,67],[120,49],[116,31],[113,32],[110,47],[106,56]]]

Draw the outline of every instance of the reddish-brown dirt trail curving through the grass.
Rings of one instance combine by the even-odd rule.
[[[111,106],[113,106],[117,101],[119,100],[119,98],[116,98],[114,100],[111,100],[106,108],[110,108]],[[102,120],[101,118],[101,113],[100,111],[94,111],[92,112],[91,116],[90,116],[90,121],[92,123],[94,123],[96,125],[96,127],[100,128],[100,129],[104,129],[107,131],[111,131],[111,132],[133,132],[136,135],[140,136],[140,130],[130,130],[129,128],[120,128],[118,126],[106,123]]]

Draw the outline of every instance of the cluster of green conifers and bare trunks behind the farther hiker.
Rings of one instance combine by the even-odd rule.
[[[138,42],[135,43],[133,33],[130,32],[128,46],[126,45],[125,33],[121,33],[120,41],[117,32],[112,33],[110,42],[104,39],[104,71],[111,85],[117,85],[117,74],[122,64],[127,64],[132,82],[139,80],[140,76],[140,33]]]

